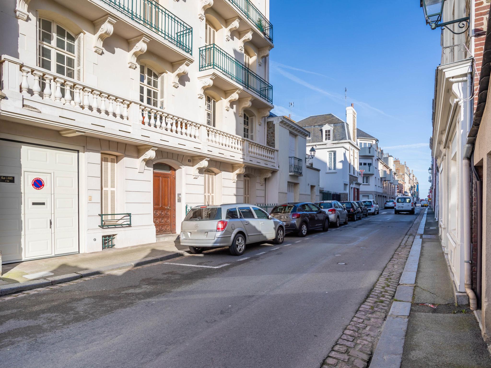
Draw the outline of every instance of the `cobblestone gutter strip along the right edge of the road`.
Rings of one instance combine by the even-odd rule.
[[[365,368],[369,364],[424,213],[421,211],[414,220],[375,286],[324,360],[322,368]]]

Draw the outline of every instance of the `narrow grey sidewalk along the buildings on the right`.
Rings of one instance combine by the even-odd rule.
[[[401,367],[491,367],[474,314],[468,305],[456,305],[465,298],[454,291],[437,227],[428,210]]]

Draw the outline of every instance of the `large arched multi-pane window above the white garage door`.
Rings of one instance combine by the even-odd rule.
[[[52,20],[39,18],[39,66],[62,76],[81,80],[81,38],[82,35],[75,37]]]

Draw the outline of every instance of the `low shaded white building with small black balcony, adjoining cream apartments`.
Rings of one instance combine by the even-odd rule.
[[[286,116],[273,113],[267,122],[268,146],[278,151],[278,171],[268,179],[268,202],[315,202],[319,200],[320,169],[305,156],[309,132]],[[288,144],[286,144],[288,142]]]

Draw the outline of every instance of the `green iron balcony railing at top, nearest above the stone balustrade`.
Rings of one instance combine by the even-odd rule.
[[[155,31],[171,44],[192,54],[192,27],[156,0],[101,0],[135,22]]]

